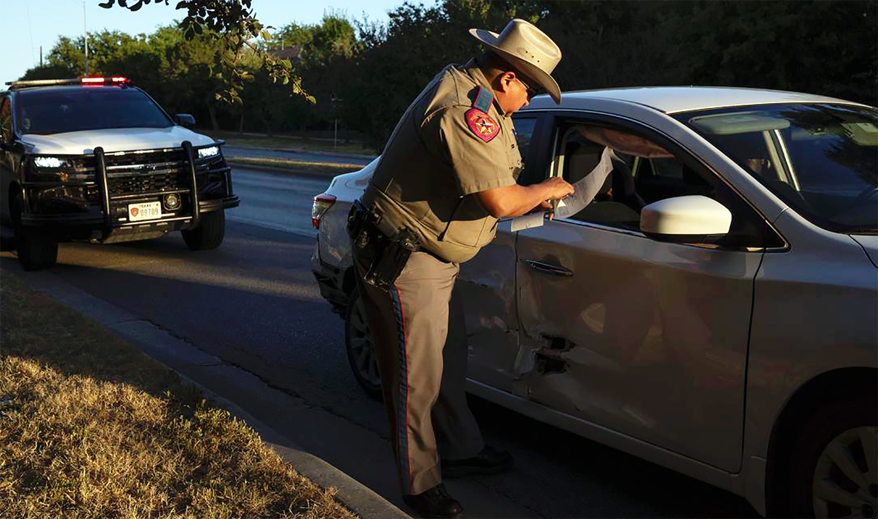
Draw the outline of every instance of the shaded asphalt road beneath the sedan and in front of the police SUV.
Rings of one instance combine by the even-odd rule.
[[[320,297],[310,270],[311,197],[327,181],[240,167],[234,181],[241,207],[227,211],[219,249],[190,252],[178,233],[117,245],[62,244],[54,274],[338,417],[340,425],[311,439],[327,456],[348,427],[386,439],[383,408],[349,373],[342,320]],[[0,265],[26,279],[11,252],[0,254]],[[483,516],[510,516],[505,505],[534,517],[757,516],[742,498],[700,481],[478,398],[471,406],[486,440],[516,461],[513,473],[469,481],[496,503],[481,508]],[[332,462],[399,502],[393,473],[372,473],[347,456]]]

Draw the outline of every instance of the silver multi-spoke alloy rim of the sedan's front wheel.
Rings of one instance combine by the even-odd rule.
[[[811,485],[815,517],[875,517],[878,429],[846,430],[817,459]]]

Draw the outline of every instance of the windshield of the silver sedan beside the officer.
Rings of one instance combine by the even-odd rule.
[[[676,117],[812,223],[878,230],[878,110],[784,104]]]

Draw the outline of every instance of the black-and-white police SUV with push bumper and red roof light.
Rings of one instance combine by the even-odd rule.
[[[124,77],[9,82],[0,92],[0,206],[25,270],[61,240],[114,243],[182,231],[214,249],[236,207],[223,141],[184,128]]]

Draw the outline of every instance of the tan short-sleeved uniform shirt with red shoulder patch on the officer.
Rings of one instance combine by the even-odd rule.
[[[458,263],[491,242],[497,219],[475,194],[515,184],[522,167],[512,119],[491,92],[471,60],[444,68],[408,107],[363,195],[386,235],[411,229],[422,247]]]

